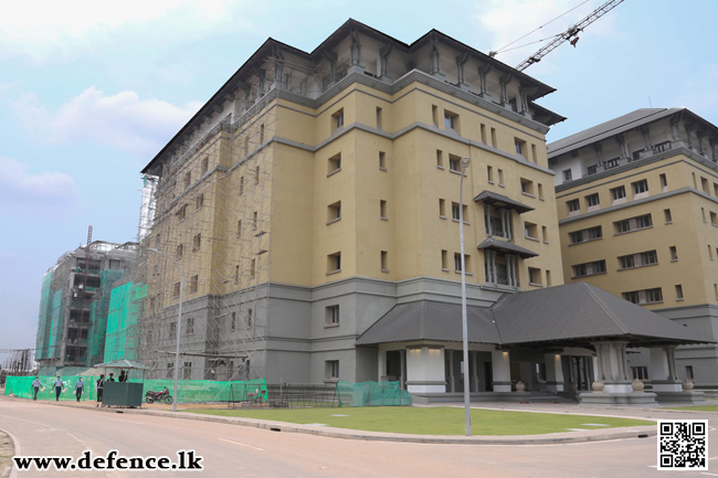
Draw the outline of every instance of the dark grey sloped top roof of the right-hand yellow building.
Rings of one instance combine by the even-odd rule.
[[[549,158],[601,141],[637,126],[655,121],[685,108],[642,108],[548,145]]]

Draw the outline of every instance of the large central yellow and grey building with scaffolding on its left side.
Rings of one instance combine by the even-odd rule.
[[[267,40],[142,171],[159,178],[148,241],[170,257],[148,256],[140,360],[171,376],[179,330],[186,379],[458,391],[464,268],[473,391],[587,390],[587,340],[612,328],[543,328],[548,346],[509,359],[489,319],[562,284],[545,134],[563,118],[535,103],[552,91],[437,31],[405,44],[349,20],[312,53]],[[416,333],[387,330],[406,320]]]

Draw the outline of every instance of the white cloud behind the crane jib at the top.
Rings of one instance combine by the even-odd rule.
[[[555,35],[582,20],[599,3],[599,0],[584,3],[577,0],[489,0],[476,6],[474,20],[483,32],[488,33],[492,50],[501,50],[496,59],[514,66],[547,45]],[[569,12],[577,6],[580,7]],[[611,34],[612,25],[609,13],[589,29],[593,35],[606,35]],[[539,30],[518,40],[536,29]]]

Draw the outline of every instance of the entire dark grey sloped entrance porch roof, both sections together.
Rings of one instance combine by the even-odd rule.
[[[358,346],[463,340],[458,304],[430,300],[392,308]],[[658,314],[587,283],[503,296],[493,308],[467,307],[468,341],[497,346],[590,346],[625,340],[629,347],[716,343]]]

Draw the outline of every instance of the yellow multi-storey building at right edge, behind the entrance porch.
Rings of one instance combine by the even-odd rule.
[[[688,109],[652,108],[549,145],[564,280],[717,337],[717,138]],[[718,386],[715,344],[676,353],[680,375]],[[630,362],[652,379],[647,355]]]

